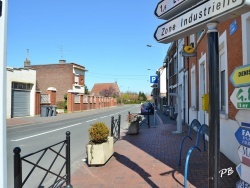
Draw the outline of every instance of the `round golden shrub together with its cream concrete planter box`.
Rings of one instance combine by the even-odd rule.
[[[109,136],[109,128],[103,122],[94,123],[89,129],[87,145],[89,165],[103,165],[114,153],[114,139]]]

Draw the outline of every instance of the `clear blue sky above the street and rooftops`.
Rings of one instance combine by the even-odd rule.
[[[150,94],[149,76],[163,65],[169,46],[153,37],[165,22],[154,15],[158,2],[9,0],[7,66],[23,67],[26,58],[32,65],[64,59],[88,70],[89,90],[117,82],[121,92]]]

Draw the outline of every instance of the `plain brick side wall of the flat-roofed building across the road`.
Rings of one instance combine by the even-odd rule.
[[[42,93],[47,93],[49,87],[57,89],[56,101],[63,101],[64,94],[72,89],[74,82],[72,64],[50,64],[29,66],[36,70],[37,89]]]

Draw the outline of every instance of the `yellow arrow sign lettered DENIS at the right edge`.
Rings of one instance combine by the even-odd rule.
[[[236,67],[230,76],[230,81],[234,87],[250,85],[250,65]]]

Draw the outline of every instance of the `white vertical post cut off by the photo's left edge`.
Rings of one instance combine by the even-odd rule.
[[[0,91],[6,91],[7,4],[0,0]],[[6,92],[0,93],[0,187],[7,187]]]

